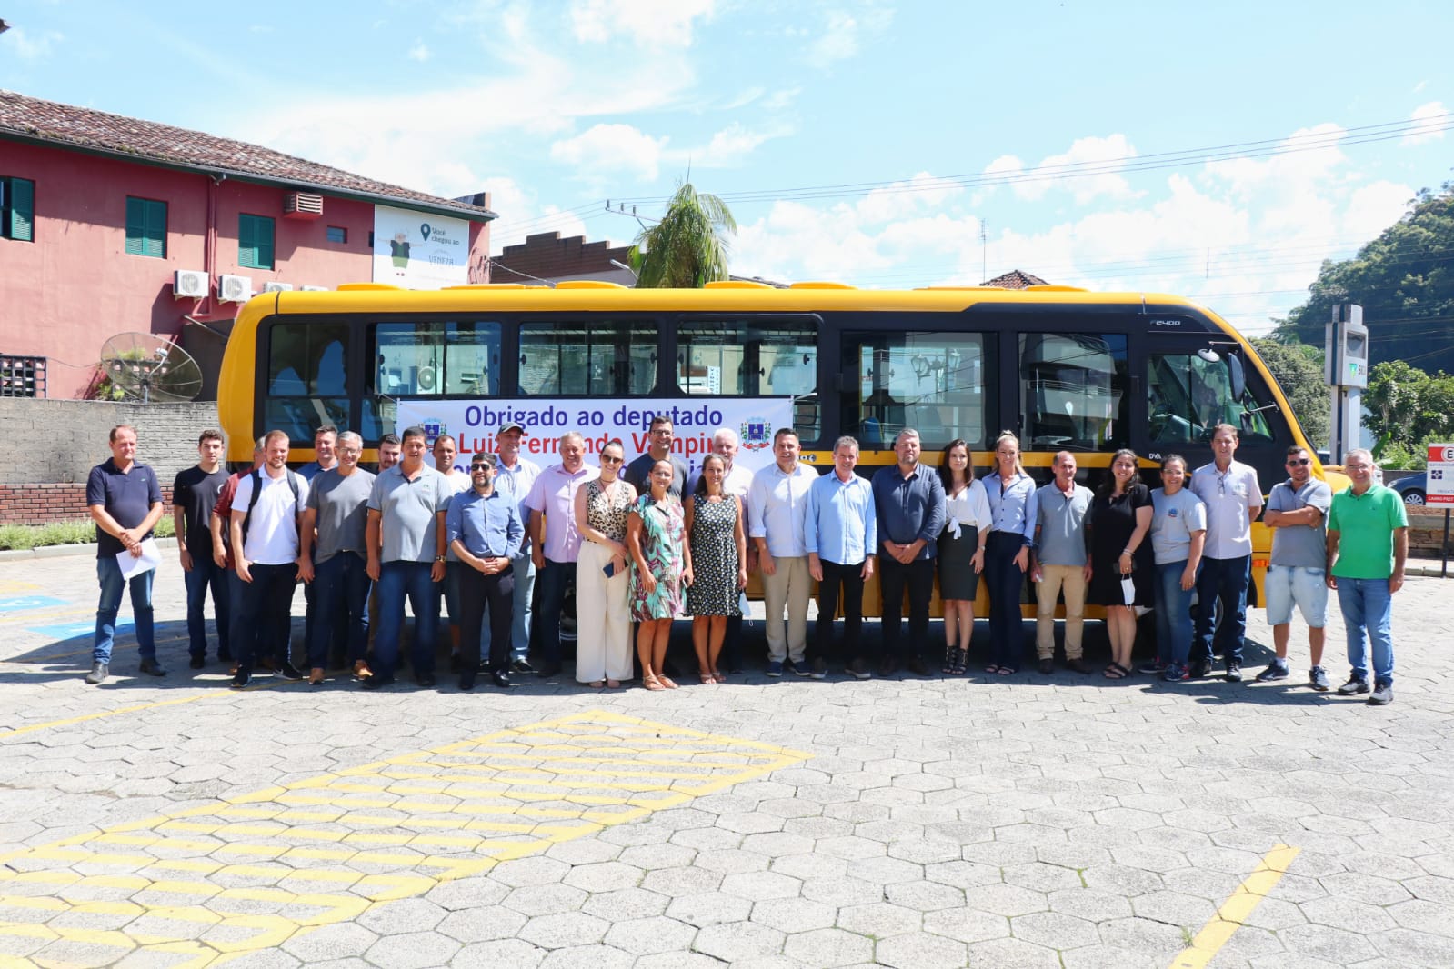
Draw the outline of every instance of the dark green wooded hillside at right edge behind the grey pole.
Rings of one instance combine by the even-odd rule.
[[[1323,346],[1332,308],[1355,302],[1368,324],[1370,363],[1412,360],[1454,372],[1454,182],[1422,189],[1409,211],[1352,259],[1325,261],[1309,299],[1278,321],[1282,343]]]

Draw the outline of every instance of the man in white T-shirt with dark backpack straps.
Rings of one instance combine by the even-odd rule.
[[[304,574],[298,535],[307,504],[307,478],[288,471],[288,434],[268,431],[263,466],[237,482],[228,522],[234,568],[243,580],[240,635],[233,641],[234,689],[252,680],[254,652],[270,658],[289,680],[302,678],[288,658],[288,636],[292,590]]]

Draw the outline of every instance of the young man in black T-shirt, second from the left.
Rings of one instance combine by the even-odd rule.
[[[222,466],[222,431],[208,427],[196,440],[198,462],[177,472],[172,482],[172,520],[176,524],[177,556],[186,583],[186,632],[192,668],[206,665],[206,590],[212,588],[212,616],[217,619],[217,658],[233,658],[230,626],[228,569],[212,559],[212,508],[227,484]]]

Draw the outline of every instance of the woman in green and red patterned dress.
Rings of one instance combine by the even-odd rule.
[[[673,495],[669,461],[651,465],[651,491],[637,498],[627,519],[627,548],[631,569],[631,617],[637,626],[637,657],[641,660],[641,686],[648,690],[675,690],[662,676],[672,619],[682,610],[682,587],[692,584],[692,551],[686,548],[682,501]]]

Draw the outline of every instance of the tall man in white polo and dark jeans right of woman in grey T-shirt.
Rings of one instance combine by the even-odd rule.
[[[1211,673],[1213,626],[1221,601],[1216,652],[1227,664],[1227,680],[1242,680],[1242,646],[1248,635],[1248,583],[1252,581],[1252,523],[1262,511],[1262,487],[1250,465],[1233,461],[1237,429],[1217,424],[1213,461],[1191,477],[1192,492],[1207,506],[1207,545],[1197,575],[1197,635],[1191,644],[1191,676]]]

